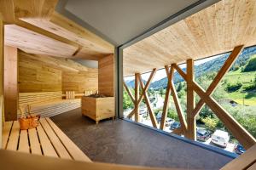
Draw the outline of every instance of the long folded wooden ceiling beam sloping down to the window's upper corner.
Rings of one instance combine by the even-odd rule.
[[[79,44],[81,49],[73,55],[74,58],[99,60],[114,53],[114,46],[111,43],[57,12],[54,12],[49,20],[41,18],[21,18],[20,20]]]

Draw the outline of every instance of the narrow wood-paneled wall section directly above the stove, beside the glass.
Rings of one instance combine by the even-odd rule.
[[[114,96],[114,59],[113,54],[99,59],[99,93]]]

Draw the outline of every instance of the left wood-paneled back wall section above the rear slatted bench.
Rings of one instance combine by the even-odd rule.
[[[19,92],[61,91],[61,70],[19,53]]]

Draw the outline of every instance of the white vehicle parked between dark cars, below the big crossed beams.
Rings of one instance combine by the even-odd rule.
[[[222,130],[216,130],[212,134],[212,143],[216,144],[221,147],[227,147],[228,143],[230,141],[230,134],[222,131]]]

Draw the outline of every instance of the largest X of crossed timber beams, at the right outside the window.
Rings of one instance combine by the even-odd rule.
[[[248,149],[251,146],[253,146],[253,144],[256,144],[256,139],[254,139],[253,136],[250,133],[248,133],[247,130],[244,127],[242,127],[239,124],[239,122],[236,121],[236,119],[230,116],[230,114],[227,111],[225,111],[224,108],[221,105],[219,105],[218,102],[211,96],[211,94],[217,88],[218,83],[222,80],[224,75],[230,70],[230,67],[234,64],[242,49],[243,45],[237,46],[233,49],[229,58],[224,62],[224,65],[222,66],[220,71],[218,71],[217,76],[213,79],[212,83],[210,84],[206,91],[203,88],[201,88],[194,80],[188,77],[189,70],[187,70],[186,74],[176,64],[172,66],[187,82],[188,88],[190,86],[190,88],[192,88],[192,90],[195,91],[195,93],[198,94],[199,97],[201,97],[200,101],[198,102],[197,105],[195,105],[195,108],[193,110],[189,110],[189,108],[187,108],[187,118],[189,117],[190,119],[193,119],[192,123],[195,124],[195,116],[201,111],[203,105],[207,104],[208,107],[216,114],[216,116],[218,116],[218,118],[224,123],[225,127],[229,129],[230,133],[232,133],[235,136],[235,138],[246,149]],[[187,105],[189,105],[189,103]],[[195,126],[188,126],[187,134],[189,131],[195,132]]]

